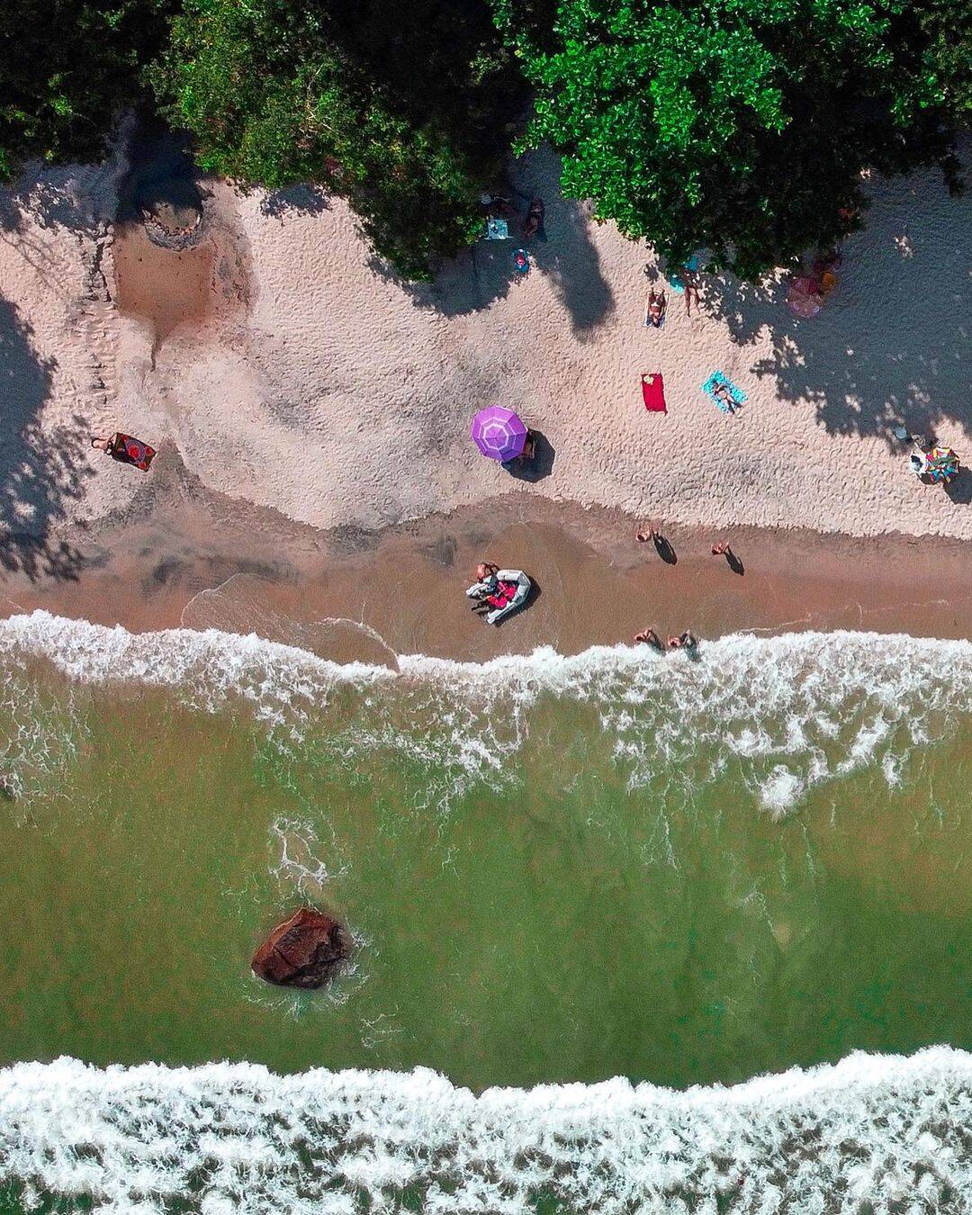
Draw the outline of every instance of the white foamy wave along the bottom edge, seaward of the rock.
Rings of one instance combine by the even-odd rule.
[[[852,1055],[734,1087],[490,1089],[249,1063],[0,1072],[0,1182],[92,1210],[972,1209],[972,1055]],[[772,1200],[770,1200],[772,1199]],[[769,1202],[769,1205],[767,1203]]]

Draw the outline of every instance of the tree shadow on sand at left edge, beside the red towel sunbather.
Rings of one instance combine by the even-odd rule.
[[[89,436],[77,417],[70,426],[41,429],[38,414],[56,362],[40,358],[30,337],[13,304],[0,298],[0,565],[32,581],[74,580],[80,554],[50,532],[94,475]]]

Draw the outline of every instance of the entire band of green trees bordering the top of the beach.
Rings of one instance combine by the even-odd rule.
[[[488,7],[490,2],[492,9]],[[525,145],[672,262],[757,277],[836,243],[860,173],[939,163],[972,117],[968,0],[10,0],[0,177],[96,158],[152,98],[199,164],[344,194],[408,278],[481,231]]]

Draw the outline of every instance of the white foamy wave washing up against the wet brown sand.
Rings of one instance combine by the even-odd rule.
[[[401,655],[396,669],[216,629],[132,634],[43,611],[0,622],[9,683],[36,656],[74,683],[165,688],[210,712],[245,702],[283,740],[326,739],[335,763],[407,757],[443,804],[474,781],[502,784],[549,700],[594,714],[628,787],[697,786],[736,764],[774,814],[866,765],[894,784],[914,747],[972,711],[972,643],[902,634],[734,634],[695,661],[628,645],[485,663]]]

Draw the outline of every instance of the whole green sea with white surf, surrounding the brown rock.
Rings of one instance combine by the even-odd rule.
[[[338,667],[254,638],[135,638],[38,614],[0,626],[0,762],[13,793],[0,815],[1,1063],[228,1059],[295,1073],[424,1067],[474,1090],[612,1076],[684,1087],[835,1063],[855,1050],[972,1049],[967,643],[736,637],[710,644],[696,662],[621,646],[486,667],[400,657],[394,672]],[[351,971],[328,993],[271,989],[249,972],[261,934],[303,902],[337,911],[357,943]],[[938,1123],[908,1121],[915,1143],[932,1134],[940,1146],[972,1091],[961,1081],[946,1092],[940,1076],[972,1074],[972,1064],[922,1058],[931,1062],[910,1064],[908,1100],[895,1090],[894,1108],[914,1104],[916,1092],[944,1102],[944,1123],[940,1112]],[[52,1094],[94,1102],[107,1117],[104,1094],[96,1100],[85,1087],[103,1087],[98,1073],[58,1067],[4,1073],[0,1180],[91,1193],[103,1204],[120,1185],[131,1209],[130,1177],[119,1181],[122,1165],[106,1163],[103,1145],[96,1154],[102,1170],[114,1170],[111,1185],[103,1175],[80,1185],[77,1145],[72,1168],[57,1175],[36,1154],[24,1164],[43,1119],[28,1134],[10,1104],[17,1094],[32,1091],[40,1109]],[[860,1067],[854,1084],[865,1075],[877,1085],[877,1098],[860,1097],[860,1117],[886,1120],[887,1109],[864,1107],[892,1100],[886,1079],[904,1064]],[[186,1095],[202,1080],[160,1075],[147,1083],[122,1073],[109,1087],[118,1100],[165,1089],[151,1117],[146,1098],[152,1126],[173,1117],[173,1085],[177,1102],[202,1117]],[[213,1109],[224,1098],[228,1109],[250,1084],[264,1092],[258,1106],[284,1101],[283,1092],[298,1100],[293,1086],[275,1087],[284,1081],[245,1076],[210,1074]],[[322,1085],[337,1100],[334,1083],[340,1087],[339,1078],[293,1081],[311,1104]],[[354,1081],[371,1094],[366,1106],[383,1108],[389,1084],[405,1086],[406,1104],[441,1107],[440,1129],[460,1157],[457,1145],[468,1148],[469,1119],[481,1107],[470,1113],[465,1096],[420,1075]],[[796,1087],[806,1097],[806,1083]],[[781,1106],[792,1089],[779,1089]],[[524,1120],[531,1153],[547,1134],[543,1118],[586,1090],[543,1091],[509,1097],[526,1101],[529,1117],[504,1114]],[[656,1112],[676,1100],[639,1091]],[[615,1111],[605,1142],[644,1131],[642,1115],[615,1108],[631,1100],[625,1092],[589,1090],[592,1112]],[[799,1117],[830,1117],[823,1097],[804,1104]],[[454,1125],[442,1112],[453,1106],[465,1111]],[[250,1109],[252,1125],[237,1130],[276,1152],[279,1135],[261,1117]],[[383,1117],[374,1114],[379,1126]],[[90,1132],[95,1141],[100,1134]],[[722,1131],[712,1134],[716,1145]],[[757,1209],[734,1170],[740,1159],[755,1168],[759,1149],[734,1147],[735,1131],[725,1134],[707,1163],[686,1165],[682,1182],[690,1174],[699,1202],[717,1205],[684,1209]],[[881,1134],[876,1146],[830,1162],[829,1174],[813,1172],[823,1155],[813,1168],[808,1155],[799,1168],[813,1177],[799,1200],[830,1193],[821,1177],[832,1189],[833,1170],[852,1169],[854,1152],[880,1159]],[[764,1149],[773,1135],[767,1130]],[[643,1148],[663,1160],[663,1140]],[[395,1152],[407,1142],[399,1136]],[[413,1147],[425,1151],[418,1140]],[[315,1148],[309,1141],[311,1157]],[[507,1148],[515,1174],[518,1149],[497,1151]],[[735,1164],[722,1169],[719,1153]],[[351,1205],[307,1209],[364,1209],[356,1203],[366,1192],[373,1203],[383,1192],[378,1155],[372,1172],[361,1165],[357,1180],[347,1174],[315,1199],[333,1191],[334,1202],[351,1194]],[[949,1209],[961,1186],[972,1186],[963,1159],[961,1168],[951,1162],[948,1181],[939,1177],[938,1205],[927,1209]],[[429,1189],[435,1169],[406,1179],[405,1166],[395,1168],[389,1209],[440,1209]],[[453,1159],[450,1185],[456,1168]],[[474,1175],[476,1187],[488,1176],[479,1168],[470,1165],[470,1186]],[[468,1209],[535,1209],[544,1194],[570,1209],[642,1209],[604,1205],[625,1188],[617,1177],[604,1191],[588,1179],[587,1189],[567,1193],[546,1168],[535,1160],[533,1175],[524,1163],[512,1189],[484,1197],[476,1188]],[[784,1182],[795,1183],[799,1168],[787,1165]],[[731,1174],[722,1205],[706,1169]],[[916,1186],[927,1169],[915,1169]],[[659,1176],[642,1177],[631,1202],[650,1193],[673,1202],[677,1191],[657,1189]],[[908,1188],[908,1179],[900,1183]],[[166,1186],[179,1193],[182,1182],[159,1174],[153,1185],[145,1182],[157,1205],[146,1209],[168,1209],[158,1194]],[[885,1182],[874,1185],[886,1197]],[[219,1191],[230,1204],[199,1209],[304,1209],[286,1187],[279,1206],[264,1196],[248,1208],[245,1187],[234,1197],[228,1182],[220,1189],[197,1177],[192,1186],[200,1203]],[[467,1206],[453,1189],[441,1209]]]

